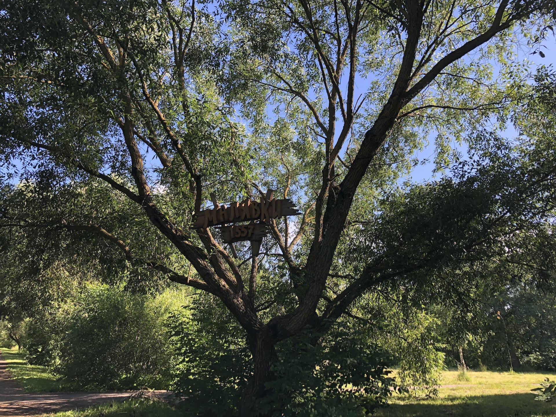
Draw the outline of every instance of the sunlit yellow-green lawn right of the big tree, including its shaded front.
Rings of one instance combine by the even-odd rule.
[[[554,373],[469,372],[459,381],[457,371],[446,371],[438,398],[415,399],[395,395],[379,417],[556,417],[556,404],[535,401],[530,390]]]

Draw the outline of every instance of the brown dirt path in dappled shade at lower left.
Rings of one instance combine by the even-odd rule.
[[[134,391],[120,393],[26,393],[10,378],[7,363],[0,355],[0,417],[25,417],[56,411],[75,410],[91,405],[123,401]],[[151,394],[158,398],[168,395],[167,391]]]

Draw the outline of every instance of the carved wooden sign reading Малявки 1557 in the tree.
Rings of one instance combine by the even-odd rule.
[[[266,196],[261,196],[260,201],[247,198],[226,206],[220,205],[216,201],[216,196],[211,194],[214,207],[201,210],[195,215],[193,229],[221,226],[219,229],[222,233],[222,240],[226,243],[244,240],[261,241],[270,233],[268,224],[272,219],[301,214],[295,208],[293,201],[287,198],[274,198],[273,195],[274,192],[269,190]],[[246,224],[230,225],[230,223],[237,222]]]

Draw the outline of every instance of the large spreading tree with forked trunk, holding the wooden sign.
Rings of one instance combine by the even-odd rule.
[[[278,342],[326,331],[385,280],[499,249],[515,222],[551,210],[553,160],[528,164],[534,146],[502,158],[485,145],[492,168],[462,170],[461,187],[381,197],[426,137],[441,165],[450,140],[504,127],[529,93],[517,50],[538,47],[554,13],[552,0],[8,0],[0,143],[19,186],[3,190],[2,226],[17,244],[56,241],[54,257],[125,258],[218,297],[250,346],[252,415]],[[264,255],[192,228],[210,192],[266,188],[303,215],[270,222]],[[42,250],[34,260],[44,266]],[[274,300],[257,292],[263,278]]]

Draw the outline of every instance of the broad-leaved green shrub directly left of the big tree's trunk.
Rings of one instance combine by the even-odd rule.
[[[237,322],[203,299],[193,312],[174,312],[168,319],[176,355],[172,390],[187,398],[186,415],[237,415],[251,354]]]

